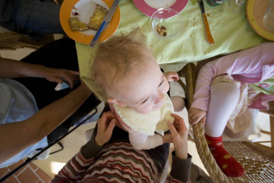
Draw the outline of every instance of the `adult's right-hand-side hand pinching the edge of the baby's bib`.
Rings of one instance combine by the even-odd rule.
[[[174,117],[174,123],[167,123],[171,132],[171,138],[174,144],[175,154],[181,159],[188,158],[188,128],[185,126],[184,119],[176,114],[171,114]]]

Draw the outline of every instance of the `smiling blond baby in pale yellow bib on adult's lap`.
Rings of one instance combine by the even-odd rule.
[[[176,72],[162,73],[136,28],[100,43],[90,82],[97,97],[109,103],[117,125],[128,131],[132,146],[141,150],[171,142],[170,134],[164,134],[167,122],[173,123],[172,113],[185,105],[183,98],[167,95],[168,82],[177,80]]]

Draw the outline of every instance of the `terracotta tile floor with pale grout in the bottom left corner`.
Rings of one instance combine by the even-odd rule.
[[[4,175],[8,174],[20,164],[22,164],[24,160],[20,160],[19,162],[10,165],[9,167],[0,168],[0,178]],[[42,170],[40,170],[37,166],[32,163],[28,163],[15,174],[10,176],[4,182],[9,183],[48,183],[51,181],[51,178],[45,174]]]

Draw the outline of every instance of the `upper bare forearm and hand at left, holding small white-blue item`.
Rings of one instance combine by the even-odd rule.
[[[74,75],[79,75],[79,72],[0,58],[0,78],[41,77],[57,83],[64,80],[72,88],[76,80]]]

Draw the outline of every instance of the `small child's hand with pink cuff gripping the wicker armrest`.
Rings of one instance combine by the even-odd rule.
[[[206,123],[206,114],[207,114],[207,112],[205,110],[191,107],[188,110],[188,121],[190,124],[196,124],[200,120],[202,120],[202,124],[205,124]]]

